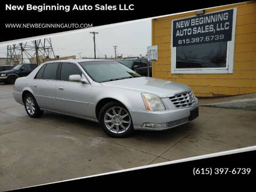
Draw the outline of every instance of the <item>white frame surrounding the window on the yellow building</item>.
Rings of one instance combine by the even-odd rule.
[[[232,9],[227,9],[232,10]],[[226,11],[226,10],[220,10],[220,11]],[[220,11],[214,11],[211,13],[217,13]],[[232,23],[232,38],[231,41],[227,42],[227,57],[226,67],[220,67],[220,68],[176,68],[176,47],[173,47],[173,27],[172,27],[172,33],[171,33],[171,74],[233,74],[234,69],[234,47],[235,47],[235,31],[236,31],[236,13],[237,8],[233,8],[233,23]],[[207,13],[210,14],[210,13]],[[205,15],[207,15],[205,14]],[[195,17],[186,17],[186,18],[192,18]],[[181,18],[185,19],[185,18]],[[180,19],[174,19],[172,20],[172,26],[173,21],[177,21]],[[209,43],[210,44],[210,43]]]

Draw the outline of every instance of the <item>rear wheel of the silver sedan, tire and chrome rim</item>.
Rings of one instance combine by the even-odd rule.
[[[32,94],[26,94],[23,102],[26,112],[30,117],[36,118],[43,115],[44,111],[40,110]]]

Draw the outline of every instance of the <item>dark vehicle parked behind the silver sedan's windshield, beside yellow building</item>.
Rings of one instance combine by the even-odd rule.
[[[129,67],[142,76],[148,76],[148,60],[147,58],[127,58],[117,60],[117,62]],[[152,62],[149,62],[149,76],[152,76]]]

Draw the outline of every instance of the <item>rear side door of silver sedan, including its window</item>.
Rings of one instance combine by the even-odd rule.
[[[57,110],[55,85],[58,67],[59,62],[44,64],[31,83],[31,89],[34,92],[37,104],[42,109]]]

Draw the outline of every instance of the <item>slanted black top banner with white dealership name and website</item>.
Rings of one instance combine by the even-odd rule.
[[[7,1],[0,3],[0,42],[34,36],[49,35],[83,28],[109,25],[118,22],[159,17],[191,10],[205,9],[243,1],[211,1],[206,3],[175,2],[175,6],[165,6],[165,2],[151,3],[133,0],[122,1]],[[228,12],[228,14],[230,14]],[[228,15],[228,22],[231,22]],[[223,26],[225,27],[225,26]],[[226,37],[225,37],[226,38]]]

